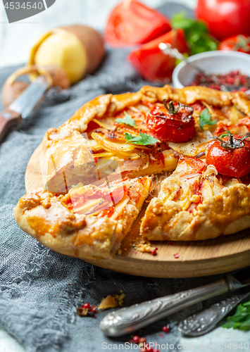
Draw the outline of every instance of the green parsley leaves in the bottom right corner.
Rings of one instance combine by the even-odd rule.
[[[240,303],[235,314],[227,317],[227,321],[222,327],[233,327],[234,329],[250,330],[250,301]]]

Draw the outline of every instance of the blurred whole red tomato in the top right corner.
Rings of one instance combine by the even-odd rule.
[[[219,40],[241,33],[250,35],[249,0],[198,0],[196,15]]]

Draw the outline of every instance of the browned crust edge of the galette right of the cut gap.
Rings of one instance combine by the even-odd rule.
[[[250,227],[250,186],[235,184],[199,204],[194,213],[175,201],[154,198],[146,208],[140,233],[155,241],[199,241]]]

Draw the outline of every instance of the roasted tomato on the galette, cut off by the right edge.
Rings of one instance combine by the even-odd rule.
[[[243,177],[250,172],[250,139],[244,139],[239,134],[228,134],[211,144],[206,163],[214,165],[222,175]]]

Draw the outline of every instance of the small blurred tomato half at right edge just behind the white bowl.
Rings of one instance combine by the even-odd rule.
[[[234,35],[220,42],[218,50],[241,51],[250,54],[250,36],[244,34]]]

